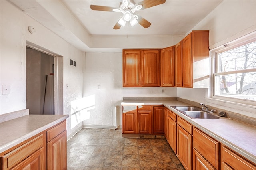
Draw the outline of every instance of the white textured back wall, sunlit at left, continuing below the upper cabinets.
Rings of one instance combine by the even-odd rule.
[[[161,89],[165,92],[162,93]],[[118,106],[118,125],[122,125],[120,106],[123,96],[176,97],[177,95],[175,87],[124,88],[122,53],[86,53],[83,94],[85,100],[91,99],[88,109],[85,109],[86,116],[83,121],[88,127],[114,127],[115,106]]]

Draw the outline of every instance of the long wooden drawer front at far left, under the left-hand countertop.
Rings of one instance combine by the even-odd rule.
[[[36,138],[26,142],[25,144],[21,145],[20,147],[12,150],[8,154],[5,154],[1,157],[1,166],[2,169],[10,169],[38,149],[44,147],[44,138],[43,134],[37,136]]]

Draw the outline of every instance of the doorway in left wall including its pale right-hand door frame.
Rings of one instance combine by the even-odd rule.
[[[35,57],[34,54],[38,56]],[[34,70],[28,67],[34,67]],[[40,78],[37,77],[38,80],[35,80],[36,76],[33,74],[40,75]],[[38,89],[32,92],[33,88]],[[63,115],[63,56],[28,41],[26,41],[26,103],[30,110],[29,114]]]

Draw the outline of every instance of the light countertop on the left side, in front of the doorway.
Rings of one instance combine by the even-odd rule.
[[[69,115],[26,115],[0,123],[0,153],[68,117]]]

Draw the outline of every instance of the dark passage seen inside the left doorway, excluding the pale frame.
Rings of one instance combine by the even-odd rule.
[[[30,114],[54,115],[54,57],[26,47],[26,103]]]

